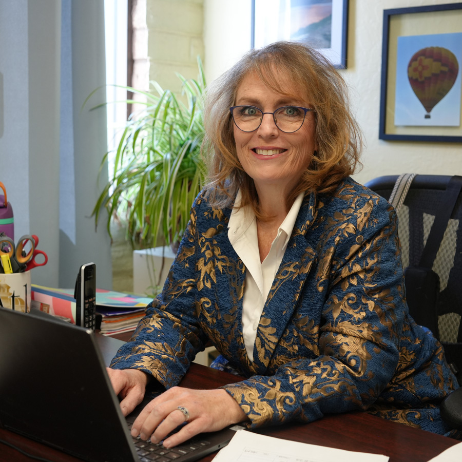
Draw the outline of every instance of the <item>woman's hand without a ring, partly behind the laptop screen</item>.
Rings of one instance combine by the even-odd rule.
[[[149,376],[138,369],[106,370],[115,394],[122,398],[122,414],[127,416],[143,401]]]

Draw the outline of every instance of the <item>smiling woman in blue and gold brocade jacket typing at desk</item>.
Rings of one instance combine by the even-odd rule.
[[[300,43],[253,50],[207,91],[210,182],[163,292],[109,370],[132,435],[175,446],[237,422],[369,412],[449,434],[456,388],[439,343],[409,317],[396,214],[349,176],[359,130],[339,74]],[[245,380],[175,387],[206,342]]]

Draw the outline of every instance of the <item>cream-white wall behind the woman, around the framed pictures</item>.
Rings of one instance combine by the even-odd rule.
[[[219,76],[251,45],[251,0],[204,0],[205,71]],[[409,6],[462,3],[449,0],[350,0],[348,68],[340,72],[351,87],[352,111],[364,132],[365,183],[401,172],[462,174],[460,143],[383,141],[378,139],[383,10]],[[460,71],[460,70],[459,70]]]

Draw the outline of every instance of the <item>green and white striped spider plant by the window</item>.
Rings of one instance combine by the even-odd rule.
[[[101,208],[107,208],[110,236],[112,218],[126,221],[127,239],[133,247],[155,246],[164,238],[172,248],[178,248],[191,204],[204,182],[200,148],[205,78],[199,58],[198,67],[198,80],[186,80],[177,73],[183,98],[157,82],[151,82],[149,92],[127,88],[146,97],[145,107],[128,118],[109,181],[92,214],[98,224]]]

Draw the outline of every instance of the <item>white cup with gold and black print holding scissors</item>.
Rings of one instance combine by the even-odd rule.
[[[28,313],[30,300],[30,271],[0,274],[0,302],[4,308]]]

